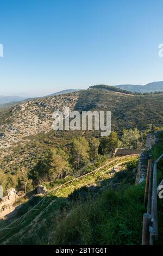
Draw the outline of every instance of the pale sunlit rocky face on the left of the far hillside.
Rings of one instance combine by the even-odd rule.
[[[0,149],[15,147],[28,141],[28,136],[52,130],[52,113],[63,111],[65,106],[73,109],[78,93],[59,95],[22,102],[12,108],[1,110]]]

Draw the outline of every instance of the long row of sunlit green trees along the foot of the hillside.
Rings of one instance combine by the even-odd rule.
[[[65,178],[67,175],[77,173],[80,168],[85,168],[87,164],[95,163],[100,156],[111,157],[117,147],[142,148],[143,141],[143,135],[137,129],[123,130],[121,139],[118,139],[114,131],[110,136],[100,139],[76,137],[72,139],[70,152],[57,148],[47,149],[32,170],[28,171],[22,167],[17,171],[16,177],[0,172],[0,178],[4,180],[3,186],[6,189],[14,186],[27,193],[40,179],[54,182],[56,179]]]

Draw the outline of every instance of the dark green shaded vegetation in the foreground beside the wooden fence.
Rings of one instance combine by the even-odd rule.
[[[142,185],[106,189],[95,199],[74,205],[61,218],[52,243],[57,245],[140,245]]]

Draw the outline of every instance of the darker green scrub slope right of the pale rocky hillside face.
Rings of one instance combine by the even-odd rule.
[[[150,124],[163,124],[163,93],[125,95],[103,89],[80,92],[75,108],[79,111],[111,111],[112,130],[146,130]]]

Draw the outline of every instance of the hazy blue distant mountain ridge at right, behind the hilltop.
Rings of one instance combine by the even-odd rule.
[[[133,93],[163,92],[163,81],[147,83],[145,86],[141,84],[120,84],[114,87],[129,90]]]

